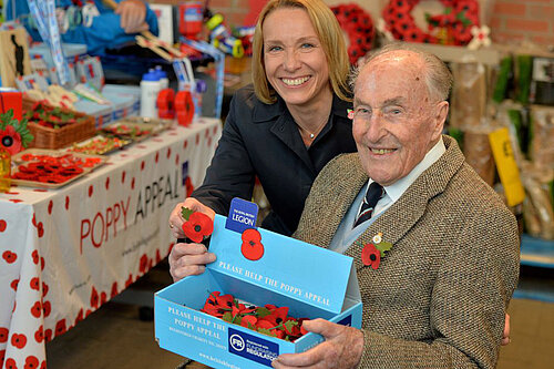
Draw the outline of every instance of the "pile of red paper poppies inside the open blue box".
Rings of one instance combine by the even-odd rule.
[[[263,307],[238,301],[233,295],[222,295],[219,291],[209,294],[202,312],[220,318],[260,334],[277,337],[294,342],[307,334],[302,322],[307,318],[293,318],[288,316],[288,307],[277,307],[266,304]]]

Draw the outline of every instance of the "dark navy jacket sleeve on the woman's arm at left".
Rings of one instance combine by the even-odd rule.
[[[222,137],[204,183],[191,195],[222,215],[227,215],[234,197],[250,201],[254,188],[255,172],[240,132],[245,129],[244,122],[249,122],[252,117],[245,107],[244,94],[239,92],[230,102]]]

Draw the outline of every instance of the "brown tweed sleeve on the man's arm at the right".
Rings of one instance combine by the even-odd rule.
[[[432,337],[410,341],[363,330],[359,368],[495,368],[504,314],[517,284],[520,243],[507,209],[475,214],[431,286]]]

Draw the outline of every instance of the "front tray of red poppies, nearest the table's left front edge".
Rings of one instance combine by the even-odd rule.
[[[107,161],[103,155],[28,148],[12,156],[12,183],[28,187],[59,188]]]

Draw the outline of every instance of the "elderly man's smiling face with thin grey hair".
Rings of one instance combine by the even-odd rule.
[[[408,175],[438,142],[448,103],[431,99],[423,63],[392,51],[365,65],[355,86],[352,133],[368,175],[388,186]]]

